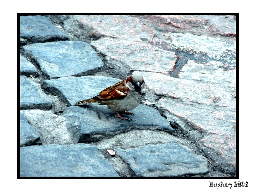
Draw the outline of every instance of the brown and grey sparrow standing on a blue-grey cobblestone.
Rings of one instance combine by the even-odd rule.
[[[130,110],[136,108],[140,104],[145,93],[146,87],[143,77],[135,74],[102,90],[97,96],[91,99],[77,102],[75,106],[97,102],[107,105],[108,109],[115,111],[117,114],[115,114],[116,117],[130,120],[128,117],[121,116],[120,113],[134,115]]]

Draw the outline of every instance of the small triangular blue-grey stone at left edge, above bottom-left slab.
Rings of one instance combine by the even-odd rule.
[[[26,116],[20,113],[20,147],[40,144],[40,134],[28,123]]]

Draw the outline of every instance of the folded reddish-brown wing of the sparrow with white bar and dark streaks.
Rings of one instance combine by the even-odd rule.
[[[110,86],[104,90],[102,90],[99,95],[93,97],[95,100],[111,100],[111,99],[123,99],[127,96],[130,91],[124,84],[124,81],[120,81],[113,86]]]

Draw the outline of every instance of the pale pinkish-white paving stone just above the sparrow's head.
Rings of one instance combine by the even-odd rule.
[[[91,45],[111,59],[123,63],[132,71],[168,74],[177,62],[174,52],[165,51],[144,42],[105,37],[92,41]]]

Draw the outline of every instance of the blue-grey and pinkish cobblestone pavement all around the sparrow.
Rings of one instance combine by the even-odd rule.
[[[74,106],[137,73],[132,120]],[[235,15],[20,17],[20,177],[191,176],[236,176]]]

